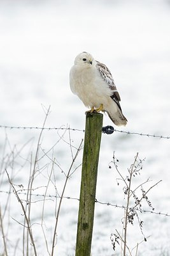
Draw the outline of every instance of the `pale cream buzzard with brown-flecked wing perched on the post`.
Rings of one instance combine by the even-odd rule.
[[[110,70],[94,60],[91,54],[81,52],[76,56],[70,70],[69,83],[71,91],[90,108],[87,112],[106,111],[115,125],[127,124]]]

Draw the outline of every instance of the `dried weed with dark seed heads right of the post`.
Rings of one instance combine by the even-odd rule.
[[[112,244],[114,244],[114,250],[115,250],[115,242],[117,242],[118,238],[120,238],[120,241],[124,244],[124,248],[122,250],[122,243],[121,243],[121,255],[123,252],[123,255],[127,255],[126,251],[128,250],[129,255],[132,256],[132,251],[130,251],[129,247],[127,246],[127,227],[128,227],[128,223],[133,224],[134,221],[134,217],[136,216],[138,223],[139,223],[139,228],[141,230],[141,234],[143,234],[143,221],[140,220],[139,216],[138,216],[138,212],[143,212],[141,209],[141,203],[143,200],[146,200],[147,204],[149,207],[152,207],[152,204],[150,202],[150,200],[148,200],[148,196],[147,193],[154,188],[155,186],[157,186],[157,184],[159,184],[159,182],[161,182],[162,180],[159,180],[159,182],[157,182],[156,184],[154,184],[153,186],[151,186],[147,191],[145,191],[143,189],[143,185],[146,184],[147,182],[150,182],[150,179],[147,179],[145,182],[141,183],[139,186],[137,186],[135,189],[131,188],[132,185],[132,178],[135,177],[136,175],[140,174],[139,171],[142,169],[141,163],[142,161],[139,159],[138,161],[138,153],[136,154],[135,158],[134,158],[134,163],[131,164],[131,167],[128,169],[128,176],[127,177],[123,177],[122,173],[120,173],[120,171],[118,170],[118,159],[115,157],[115,152],[113,154],[113,164],[115,165],[115,168],[118,172],[118,174],[120,175],[120,180],[122,180],[125,184],[124,186],[124,195],[127,196],[127,201],[126,201],[126,206],[124,207],[125,209],[125,215],[124,215],[124,221],[123,221],[123,230],[122,230],[122,236],[120,236],[120,234],[117,231],[117,235],[115,235],[115,240],[112,239]],[[111,168],[111,166],[110,166]],[[118,179],[117,179],[117,184],[118,183]],[[142,196],[140,198],[138,198],[138,196],[136,196],[136,191],[141,188],[142,191]],[[134,206],[129,207],[130,205],[130,199],[131,197],[134,198]],[[154,210],[154,208],[152,207],[152,211]],[[143,234],[143,241],[146,241],[146,237]],[[142,242],[141,242],[142,243]],[[140,243],[138,243],[134,248],[136,248],[136,256],[138,255],[138,246]],[[134,250],[134,248],[132,250]]]

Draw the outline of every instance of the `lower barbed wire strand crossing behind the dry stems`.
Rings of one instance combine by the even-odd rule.
[[[27,189],[23,189],[23,190],[27,190]],[[3,191],[3,190],[0,190],[0,193],[6,193],[6,194],[13,194],[13,191]],[[17,192],[18,195],[27,195],[26,192]],[[30,195],[30,193],[29,193]],[[31,193],[31,196],[42,196],[42,197],[45,197],[45,198],[61,198],[60,196],[56,196],[56,195],[41,195],[41,194],[34,194],[34,193]],[[74,198],[74,197],[71,197],[71,196],[62,196],[62,198],[65,198],[65,199],[69,199],[69,200],[77,200],[77,201],[80,201],[79,198]],[[111,206],[111,207],[115,207],[115,208],[121,208],[121,209],[126,209],[126,207],[124,205],[117,205],[117,204],[111,204],[109,202],[101,202],[97,199],[95,199],[95,202],[97,204],[101,204],[101,205],[106,205],[106,206]],[[166,217],[170,217],[170,214],[168,213],[164,213],[164,212],[155,212],[155,211],[149,211],[149,210],[145,210],[145,209],[136,209],[136,211],[140,211],[140,212],[149,212],[149,213],[152,213],[152,214],[157,214],[157,215],[162,215],[162,216],[166,216]]]

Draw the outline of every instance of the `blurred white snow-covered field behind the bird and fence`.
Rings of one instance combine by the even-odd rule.
[[[121,106],[128,119],[124,131],[143,132],[169,136],[170,125],[170,2],[149,1],[0,1],[0,85],[1,125],[41,127],[45,108],[50,105],[46,127],[71,127],[85,129],[85,106],[71,93],[69,69],[75,56],[81,51],[93,54],[105,63],[117,84]],[[103,125],[112,125],[104,115]],[[117,127],[115,127],[117,129]],[[122,128],[121,128],[122,129]],[[119,129],[120,130],[120,129]],[[30,161],[36,154],[40,130],[0,129],[1,213],[5,211],[9,184],[4,169],[14,184],[27,188]],[[69,143],[78,147],[83,131],[44,131],[41,138],[38,172],[34,181],[34,194],[43,195],[51,170],[47,195],[55,195],[56,188],[62,192],[65,176],[72,161]],[[62,138],[60,138],[62,137]],[[24,144],[26,145],[24,146]],[[57,143],[56,145],[54,145]],[[148,188],[159,180],[148,197],[155,212],[170,214],[169,161],[170,140],[127,135],[114,132],[103,134],[97,179],[97,200],[122,205],[124,193],[117,186],[112,161],[113,151],[119,159],[119,170],[126,175],[127,168],[139,152],[143,162],[141,175],[134,179],[134,186],[152,180]],[[22,148],[24,146],[24,148]],[[53,150],[50,150],[53,148]],[[73,148],[73,154],[76,153]],[[50,152],[48,152],[50,150]],[[31,155],[32,152],[32,155]],[[55,157],[52,166],[50,158]],[[82,150],[74,163],[81,163]],[[74,170],[74,169],[73,169]],[[55,179],[54,179],[55,176]],[[54,184],[55,180],[55,184]],[[78,198],[81,167],[68,180],[65,196]],[[42,188],[39,188],[41,187]],[[16,187],[17,188],[17,187]],[[25,193],[25,191],[22,191]],[[22,199],[24,195],[20,195]],[[51,246],[55,223],[55,198],[45,201],[43,227]],[[32,197],[32,226],[39,256],[46,256],[45,239],[41,229],[42,196]],[[57,203],[58,203],[57,199]],[[23,212],[15,195],[10,195],[10,207],[4,214],[4,232],[8,237],[8,255],[22,253]],[[145,208],[148,209],[145,205]],[[10,210],[9,210],[10,209]],[[93,256],[116,255],[111,246],[110,235],[115,228],[121,232],[124,210],[96,204]],[[57,228],[56,253],[74,255],[78,200],[64,199]],[[15,219],[15,220],[13,220]],[[139,246],[139,255],[163,255],[169,248],[170,218],[159,214],[142,214],[143,232],[148,238]],[[7,223],[10,223],[8,226]],[[2,236],[1,236],[2,237]],[[129,247],[142,241],[138,228],[129,227]],[[17,242],[18,241],[18,242]],[[3,252],[3,239],[0,239]],[[0,252],[0,253],[1,253]],[[117,251],[118,252],[118,247]]]

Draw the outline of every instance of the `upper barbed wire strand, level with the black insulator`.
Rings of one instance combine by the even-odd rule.
[[[30,129],[30,130],[69,130],[69,131],[79,131],[79,132],[85,132],[85,130],[81,129],[75,129],[70,127],[26,127],[26,126],[8,126],[8,125],[0,125],[0,128],[4,129]],[[159,139],[170,139],[170,136],[163,136],[163,135],[156,135],[156,134],[149,134],[149,133],[143,133],[143,132],[130,132],[130,131],[122,131],[114,129],[115,132],[125,133],[127,135],[138,135],[138,136],[145,136],[145,137],[152,137],[152,138],[159,138]]]

